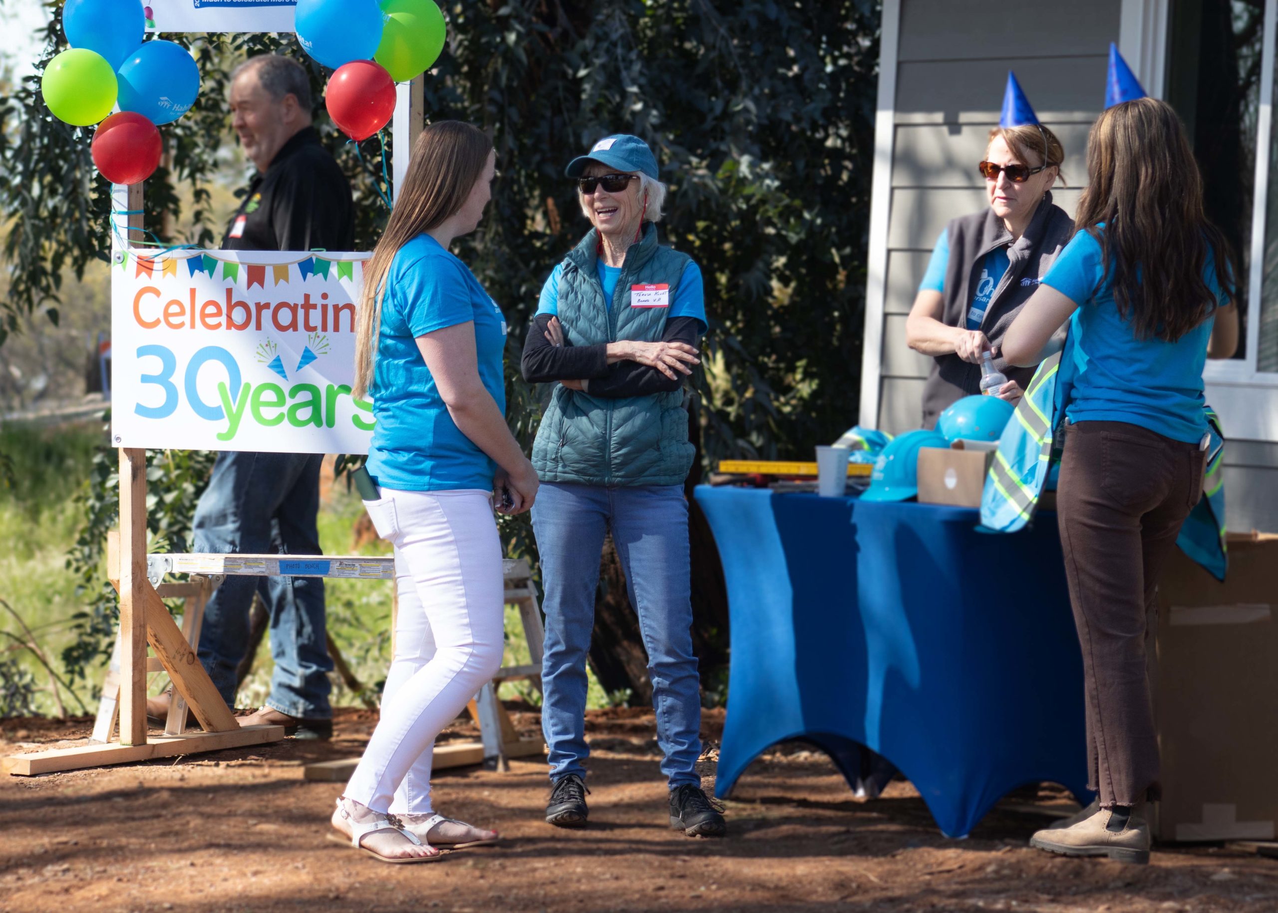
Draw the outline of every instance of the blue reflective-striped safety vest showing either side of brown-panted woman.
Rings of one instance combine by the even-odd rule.
[[[1072,339],[1066,339],[1065,353]],[[985,477],[980,499],[980,526],[985,532],[1016,532],[1034,517],[1039,495],[1061,462],[1057,431],[1065,421],[1072,384],[1061,371],[1057,353],[1039,364],[1011,421],[998,439],[998,450]],[[1070,364],[1071,361],[1066,361]],[[1228,556],[1224,542],[1224,435],[1212,407],[1204,407],[1208,422],[1208,469],[1203,496],[1181,527],[1176,543],[1186,555],[1215,577],[1224,579]]]

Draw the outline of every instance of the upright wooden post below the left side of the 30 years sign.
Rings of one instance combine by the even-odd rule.
[[[143,745],[147,742],[146,591],[151,588],[147,581],[147,451],[133,448],[120,448],[119,568],[120,743]]]

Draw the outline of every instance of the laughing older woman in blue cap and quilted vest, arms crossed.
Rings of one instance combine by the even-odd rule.
[[[670,825],[718,836],[723,816],[695,770],[700,679],[684,497],[694,458],[684,380],[707,329],[702,274],[657,239],[666,185],[642,139],[604,137],[569,162],[567,176],[593,228],[546,280],[523,355],[525,380],[555,385],[533,445],[546,591],[546,821],[587,821],[585,659],[611,532],[648,651]]]

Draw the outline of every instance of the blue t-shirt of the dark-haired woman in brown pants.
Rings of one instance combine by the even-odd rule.
[[[1065,414],[1071,422],[1127,422],[1177,441],[1197,442],[1203,417],[1203,366],[1215,317],[1174,343],[1136,339],[1118,316],[1112,283],[1102,279],[1100,242],[1079,231],[1043,277],[1079,304],[1070,329],[1074,393]],[[1203,279],[1222,303],[1210,254]],[[1099,285],[1099,290],[1098,290]]]

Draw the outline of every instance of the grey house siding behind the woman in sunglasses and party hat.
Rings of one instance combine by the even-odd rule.
[[[1113,0],[901,0],[892,198],[887,231],[879,427],[919,427],[927,357],[905,344],[905,316],[937,234],[952,217],[988,206],[976,162],[998,123],[1007,70],[1039,119],[1065,144],[1067,187],[1053,191],[1071,215],[1086,179],[1088,129],[1104,101]]]

